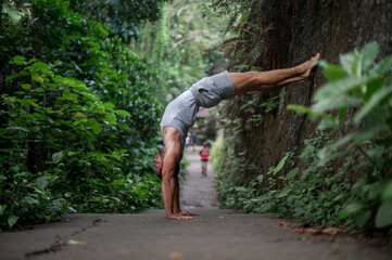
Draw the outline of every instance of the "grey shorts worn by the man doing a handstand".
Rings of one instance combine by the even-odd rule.
[[[213,107],[220,101],[230,99],[235,95],[235,86],[232,84],[228,72],[205,77],[194,83],[190,91],[194,95],[199,106]]]

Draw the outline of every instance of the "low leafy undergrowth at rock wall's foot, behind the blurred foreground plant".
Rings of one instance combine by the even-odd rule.
[[[250,180],[245,185],[236,184],[239,180],[232,179],[232,176],[235,172],[238,174],[240,166],[248,162],[243,159],[244,154],[238,156],[231,152],[230,160],[233,164],[227,164],[219,156],[222,152],[215,151],[214,147],[214,153],[217,153],[214,165],[220,169],[218,191],[222,206],[245,212],[277,212],[281,217],[293,218],[296,221],[337,223],[341,205],[350,197],[350,183],[344,179],[349,165],[338,172],[330,166],[317,165],[316,153],[325,140],[325,133],[318,132],[314,139],[305,141],[306,148],[299,156],[305,167],[292,168],[293,153],[288,153],[267,172],[267,185],[262,185],[264,174]],[[229,147],[228,143],[225,145],[225,155],[230,154],[232,147]],[[237,168],[229,171],[229,167],[233,166]],[[278,174],[284,166],[292,169],[286,174]]]

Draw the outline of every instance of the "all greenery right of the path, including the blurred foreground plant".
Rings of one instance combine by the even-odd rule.
[[[319,131],[305,140],[300,166],[294,167],[294,153],[288,152],[267,172],[267,180],[260,174],[243,184],[243,166],[252,165],[245,161],[245,153],[233,152],[235,136],[220,140],[213,162],[219,172],[222,206],[278,212],[299,221],[390,230],[392,56],[371,67],[377,54],[377,43],[370,43],[341,55],[341,66],[320,62],[330,82],[316,92],[315,104],[309,108],[289,106],[308,113],[312,119],[323,118]],[[355,116],[347,117],[354,108]],[[347,132],[347,125],[355,130]],[[333,162],[342,159],[344,167],[337,169]],[[278,174],[283,167],[290,170]],[[349,172],[354,172],[356,180],[350,180]],[[267,185],[263,185],[265,181]]]

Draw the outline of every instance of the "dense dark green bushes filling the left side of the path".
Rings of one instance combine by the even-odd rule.
[[[151,63],[67,1],[1,10],[0,225],[155,206]]]

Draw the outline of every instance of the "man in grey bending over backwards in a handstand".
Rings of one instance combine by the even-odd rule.
[[[164,148],[154,159],[156,174],[162,178],[162,197],[167,218],[189,220],[191,216],[198,216],[180,209],[178,172],[188,130],[195,121],[199,107],[213,107],[222,100],[250,91],[274,91],[292,82],[309,80],[319,57],[317,53],[309,61],[286,69],[249,73],[226,70],[202,78],[167,105],[161,120]]]

